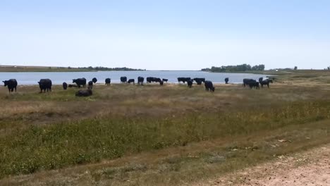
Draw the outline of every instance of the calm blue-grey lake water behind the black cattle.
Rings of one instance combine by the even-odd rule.
[[[104,83],[109,77],[112,82],[120,82],[120,77],[126,76],[128,79],[138,80],[142,77],[160,77],[169,79],[169,82],[178,82],[177,77],[205,77],[212,82],[224,83],[224,78],[229,77],[230,83],[242,83],[244,78],[259,79],[266,78],[267,75],[250,73],[207,73],[202,71],[99,71],[99,72],[74,72],[74,73],[0,73],[0,80],[16,79],[18,85],[37,85],[40,79],[49,78],[53,85],[61,85],[63,82],[68,84],[79,77],[85,77],[87,81],[97,78],[97,83]]]

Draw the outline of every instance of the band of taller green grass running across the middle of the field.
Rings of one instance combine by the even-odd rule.
[[[190,112],[160,118],[102,116],[31,125],[0,137],[0,177],[116,159],[125,154],[185,146],[330,118],[329,101],[295,101],[238,112]]]

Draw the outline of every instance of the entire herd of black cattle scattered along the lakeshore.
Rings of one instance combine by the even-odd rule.
[[[121,83],[122,84],[130,84],[133,83],[133,85],[135,85],[135,80],[134,79],[128,79],[126,76],[123,76],[120,78]],[[164,82],[167,82],[167,79],[161,79],[159,77],[147,77],[146,78],[146,82],[147,83],[152,83],[152,82],[156,82],[159,83],[159,85],[163,85]],[[225,83],[228,84],[229,82],[229,78],[226,77],[224,79]],[[13,92],[13,90],[15,89],[16,92],[16,87],[18,85],[16,79],[10,79],[10,80],[6,80],[3,81],[4,82],[4,86],[8,87],[9,92]],[[72,81],[73,83],[75,83],[75,85],[68,85],[66,82],[63,82],[63,89],[67,89],[68,87],[86,87],[86,85],[88,86],[87,89],[80,89],[78,92],[75,93],[75,96],[77,97],[88,97],[90,95],[92,95],[92,89],[93,89],[93,85],[97,82],[97,78],[94,77],[92,78],[91,81],[87,82],[87,80],[82,77],[82,78],[78,78],[78,79],[73,79]],[[143,85],[143,82],[145,82],[145,77],[138,77],[138,85]],[[205,86],[205,90],[206,91],[211,91],[214,92],[214,86],[212,81],[209,80],[205,80],[204,77],[195,77],[195,78],[190,78],[190,77],[178,77],[178,83],[180,84],[181,82],[183,82],[183,84],[185,84],[185,82],[187,82],[187,85],[189,88],[193,87],[193,82],[196,82],[197,85],[202,85],[202,83],[204,83]],[[248,86],[250,87],[250,89],[255,88],[255,89],[259,89],[261,85],[261,87],[264,87],[264,85],[267,85],[267,87],[269,88],[269,83],[273,83],[273,80],[271,79],[267,79],[267,80],[263,80],[262,77],[259,78],[259,81],[257,80],[253,80],[253,79],[244,79],[243,80],[243,86]],[[39,84],[39,88],[40,88],[40,93],[42,92],[51,92],[51,80],[49,79],[41,79],[38,82]],[[110,78],[106,78],[105,79],[105,85],[110,85],[111,84],[111,79]]]

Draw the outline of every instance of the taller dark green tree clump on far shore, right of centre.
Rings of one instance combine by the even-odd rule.
[[[214,73],[244,72],[251,70],[264,70],[264,65],[250,66],[248,64],[242,64],[238,66],[221,66],[221,67],[212,66],[212,68],[202,68],[202,71],[214,72]]]

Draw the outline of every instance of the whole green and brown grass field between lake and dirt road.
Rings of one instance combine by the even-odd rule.
[[[189,185],[330,142],[327,72],[270,89],[0,88],[0,185]]]

